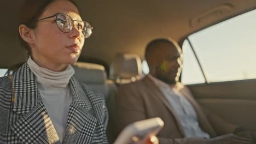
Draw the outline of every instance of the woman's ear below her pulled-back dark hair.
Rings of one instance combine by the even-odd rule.
[[[32,34],[32,29],[28,28],[26,25],[19,26],[19,33],[23,40],[25,40],[28,44],[34,43],[34,37]]]

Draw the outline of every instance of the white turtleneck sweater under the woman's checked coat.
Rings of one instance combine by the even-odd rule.
[[[39,67],[31,57],[27,61],[28,66],[36,75],[37,86],[42,97],[43,104],[53,122],[54,128],[62,142],[65,136],[69,106],[72,103],[69,80],[74,74],[74,69],[69,67],[61,72],[51,71]]]

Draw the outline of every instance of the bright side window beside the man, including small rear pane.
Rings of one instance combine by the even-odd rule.
[[[182,82],[255,79],[255,17],[256,10],[249,11],[189,35],[183,43]]]

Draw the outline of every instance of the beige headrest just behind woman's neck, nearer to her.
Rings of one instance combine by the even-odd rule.
[[[74,77],[83,83],[105,83],[107,79],[103,65],[94,63],[77,62],[73,65]]]

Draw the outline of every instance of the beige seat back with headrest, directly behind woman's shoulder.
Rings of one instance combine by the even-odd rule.
[[[73,65],[75,70],[74,77],[80,82],[85,83],[89,88],[101,91],[106,100],[109,120],[107,128],[107,136],[109,143],[112,143],[115,137],[113,131],[113,110],[114,110],[114,97],[117,93],[117,87],[114,82],[107,79],[106,71],[102,65],[93,63],[77,62]]]

